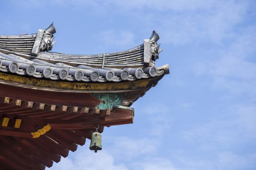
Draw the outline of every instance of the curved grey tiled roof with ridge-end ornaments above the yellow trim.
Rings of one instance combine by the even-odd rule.
[[[81,82],[120,82],[168,73],[156,68],[161,51],[154,31],[136,48],[96,55],[72,55],[50,51],[56,33],[53,24],[38,34],[0,35],[0,71],[42,79]]]

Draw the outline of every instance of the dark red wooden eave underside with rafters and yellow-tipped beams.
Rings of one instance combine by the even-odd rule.
[[[5,94],[0,90],[0,96]],[[69,150],[76,151],[77,145],[83,145],[86,138],[90,139],[95,125],[99,124],[99,132],[102,132],[104,126],[133,122],[133,109],[94,108],[99,101],[90,94],[82,97],[95,102],[85,106],[79,105],[79,102],[71,102],[68,106],[58,105],[55,99],[45,100],[43,96],[31,96],[30,101],[0,98],[0,169],[44,170],[45,166],[51,167],[53,161],[59,162],[60,156],[66,157]],[[51,102],[54,104],[49,104]],[[20,122],[19,125],[17,121]]]

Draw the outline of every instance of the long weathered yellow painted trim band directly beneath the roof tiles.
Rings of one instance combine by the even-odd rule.
[[[151,86],[152,79],[153,78],[111,83],[76,83],[34,79],[0,72],[0,80],[3,81],[15,82],[26,85],[35,85],[40,87],[61,88],[71,90],[136,90]]]

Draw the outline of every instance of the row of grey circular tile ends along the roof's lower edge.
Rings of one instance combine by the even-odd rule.
[[[72,67],[64,63],[48,63],[36,58],[25,59],[15,54],[0,52],[0,71],[30,75],[36,78],[49,78],[52,80],[84,81],[84,82],[119,82],[133,81],[141,78],[154,77],[157,68],[92,68],[85,65]]]

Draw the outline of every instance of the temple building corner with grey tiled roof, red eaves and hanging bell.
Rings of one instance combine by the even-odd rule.
[[[44,170],[86,139],[101,150],[105,126],[133,123],[131,105],[169,73],[155,67],[153,31],[120,52],[50,52],[55,27],[0,35],[0,170]],[[104,149],[104,148],[103,148]]]

